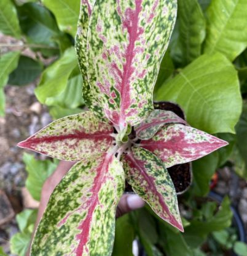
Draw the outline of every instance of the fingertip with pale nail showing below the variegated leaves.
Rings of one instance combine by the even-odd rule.
[[[136,210],[145,205],[141,197],[136,194],[124,194],[117,205],[116,217],[120,217],[131,210]]]

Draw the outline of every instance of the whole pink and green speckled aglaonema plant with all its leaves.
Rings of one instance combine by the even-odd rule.
[[[176,7],[175,0],[82,0],[76,51],[89,110],[18,144],[77,162],[50,197],[31,255],[111,255],[125,179],[160,218],[183,231],[167,168],[227,142],[153,109]]]

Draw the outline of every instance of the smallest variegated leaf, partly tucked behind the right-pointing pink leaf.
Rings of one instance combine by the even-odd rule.
[[[163,125],[168,123],[183,123],[186,125],[186,121],[173,112],[155,109],[142,123],[135,127],[136,136],[139,139],[150,139]]]

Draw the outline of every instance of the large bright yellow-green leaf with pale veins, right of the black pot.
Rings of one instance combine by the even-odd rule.
[[[237,72],[219,53],[200,56],[180,70],[158,90],[156,100],[178,103],[187,122],[208,133],[234,133],[241,113]]]

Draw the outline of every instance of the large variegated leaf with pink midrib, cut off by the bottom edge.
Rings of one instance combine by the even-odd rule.
[[[110,256],[124,170],[114,155],[76,163],[50,197],[31,255]]]

